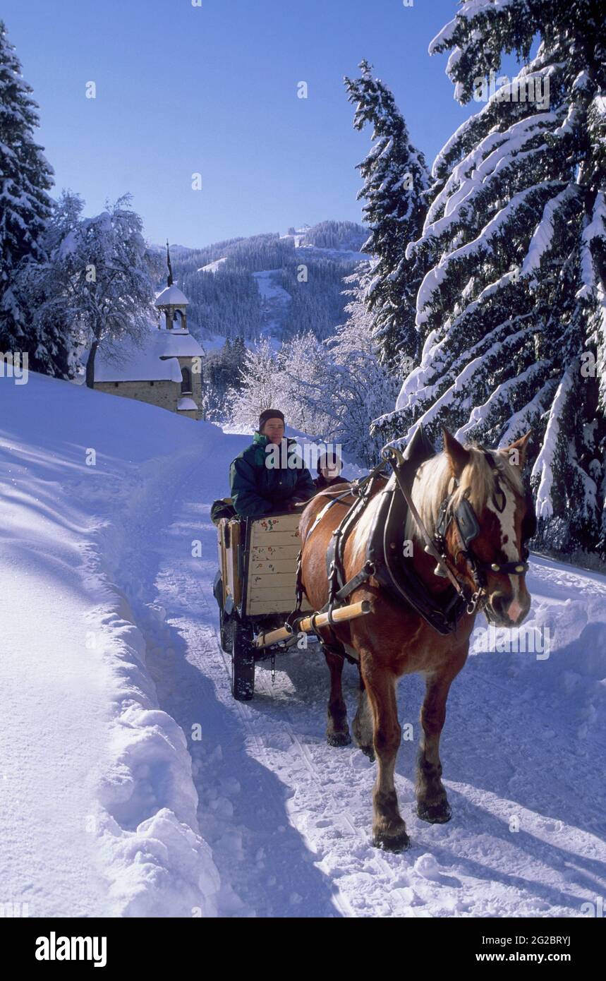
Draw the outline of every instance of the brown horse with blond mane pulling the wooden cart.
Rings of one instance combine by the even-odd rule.
[[[371,612],[318,631],[330,671],[329,745],[343,746],[351,742],[341,690],[344,658],[355,660],[359,668],[360,689],[353,735],[360,749],[372,760],[378,759],[373,790],[373,844],[391,852],[401,852],[410,846],[393,782],[401,742],[395,696],[398,678],[414,672],[425,675],[426,693],[421,710],[422,732],[417,761],[417,813],[429,823],[444,823],[450,820],[452,812],[441,780],[439,740],[448,692],[467,660],[476,615],[483,605],[490,622],[517,627],[530,610],[525,580],[528,570],[525,542],[531,538],[535,525],[531,497],[524,490],[523,470],[531,433],[506,448],[492,450],[477,444],[463,445],[447,431],[443,436],[443,452],[431,456],[416,471],[411,497],[432,539],[437,536],[438,522],[444,514],[443,502],[448,501],[447,525],[436,541],[441,546],[443,564],[454,572],[465,595],[473,594],[474,601],[463,607],[456,629],[442,636],[411,604],[398,601],[371,576],[349,596],[351,602],[370,600]],[[395,480],[394,473],[386,485],[384,480],[382,485],[379,484],[379,490],[381,487],[388,490],[390,482]],[[342,565],[347,580],[364,566],[380,497],[380,492],[370,495],[366,509],[345,541]],[[468,543],[467,547],[456,520],[457,509],[465,501],[477,518],[477,534],[473,545]],[[327,497],[320,493],[302,513],[299,523],[300,575],[314,609],[321,609],[328,602],[330,537],[351,503],[351,497],[344,498],[335,500],[334,505],[327,508]],[[323,509],[324,513],[321,513]],[[439,565],[436,566],[430,549],[424,547],[427,539],[424,540],[419,523],[410,510],[405,519],[404,535],[405,541],[411,543],[415,574],[428,594],[438,599],[445,595],[444,591],[450,589],[452,592],[450,581],[444,578]],[[479,568],[482,573],[481,598]]]

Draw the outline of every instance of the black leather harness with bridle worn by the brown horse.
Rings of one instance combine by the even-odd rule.
[[[482,449],[482,451],[492,468],[493,474],[497,477],[493,499],[497,510],[502,511],[505,507],[505,495],[498,482],[499,471],[492,455],[487,450]],[[434,630],[442,636],[447,636],[456,630],[457,624],[465,612],[473,614],[483,608],[487,598],[485,575],[487,571],[501,572],[510,576],[521,576],[528,572],[529,551],[526,547],[522,559],[515,562],[482,562],[471,551],[471,543],[480,534],[480,524],[467,496],[464,496],[456,506],[454,505],[453,495],[458,487],[458,481],[454,478],[453,489],[444,498],[439,508],[435,536],[434,538],[429,536],[429,532],[413,502],[411,491],[417,470],[422,463],[434,455],[434,452],[423,427],[419,427],[415,431],[404,453],[394,447],[386,447],[383,450],[383,461],[386,460],[391,464],[395,481],[391,486],[387,484],[380,492],[381,500],[371,528],[365,563],[360,572],[347,582],[344,581],[343,567],[345,542],[369,501],[375,495],[375,482],[379,479],[379,473],[384,468],[384,462],[381,461],[363,480],[354,481],[351,487],[345,491],[323,491],[323,496],[331,496],[332,499],[316,516],[307,533],[307,539],[334,504],[351,495],[357,498],[337,528],[334,529],[328,544],[328,602],[322,610],[319,610],[319,613],[328,612],[333,644],[327,645],[320,635],[318,635],[319,639],[325,647],[341,654],[341,656],[344,655],[348,660],[352,660],[352,658],[344,653],[342,645],[339,644],[332,630],[331,614],[336,606],[342,605],[344,600],[371,576],[375,577],[393,598],[399,601],[404,600]],[[385,476],[384,473],[380,473],[380,479],[384,480]],[[441,598],[429,593],[425,584],[416,575],[412,562],[404,554],[404,529],[409,511],[425,539],[425,551],[436,560],[434,574],[450,581],[452,589]],[[462,553],[474,580],[475,589],[473,591],[458,574],[456,564],[451,566],[446,555],[445,537],[451,523],[454,524],[458,540],[455,563],[459,554]],[[296,609],[291,617],[298,614],[303,600],[301,554],[299,552],[297,559]]]

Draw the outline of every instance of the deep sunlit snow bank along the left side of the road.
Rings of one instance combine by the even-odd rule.
[[[221,438],[210,424],[33,373],[22,386],[0,380],[0,593],[22,597],[3,611],[2,680],[35,691],[25,715],[9,703],[3,735],[27,746],[49,712],[63,733],[43,766],[65,806],[44,795],[35,760],[5,753],[8,803],[23,802],[25,818],[14,843],[9,834],[19,861],[0,863],[0,878],[7,895],[35,893],[31,915],[216,914],[219,873],[199,835],[187,741],[159,710],[146,666],[164,611],[145,605],[153,570],[134,559],[140,516],[170,506],[180,476]],[[43,845],[41,806],[54,811]],[[38,845],[63,855],[65,897]]]

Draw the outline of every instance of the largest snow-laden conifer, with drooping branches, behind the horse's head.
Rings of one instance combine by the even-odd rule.
[[[601,0],[466,0],[432,41],[458,99],[488,97],[433,165],[408,247],[427,269],[423,359],[378,427],[492,445],[532,428],[538,541],[602,554],[605,15]],[[489,94],[503,51],[523,67]]]

